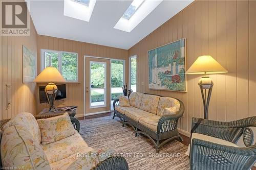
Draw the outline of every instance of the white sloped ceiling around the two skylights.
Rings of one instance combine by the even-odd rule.
[[[63,15],[64,1],[28,1],[39,35],[129,49],[193,0],[163,1],[130,33],[114,29],[132,1],[97,0],[89,22]]]

